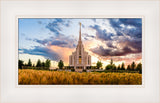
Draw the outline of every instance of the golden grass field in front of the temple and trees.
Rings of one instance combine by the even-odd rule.
[[[23,69],[18,72],[20,85],[141,85],[142,74],[139,73],[98,73],[65,72]]]

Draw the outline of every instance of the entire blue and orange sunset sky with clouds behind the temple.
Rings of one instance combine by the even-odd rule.
[[[105,67],[111,59],[115,65],[142,62],[141,18],[19,18],[19,59],[24,63],[31,59],[35,65],[38,59],[50,59],[54,68],[63,60],[68,66],[78,44],[80,22],[93,66],[101,61]]]

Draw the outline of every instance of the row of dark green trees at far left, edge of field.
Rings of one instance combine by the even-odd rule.
[[[49,70],[51,66],[51,60],[47,59],[45,62],[41,62],[40,59],[38,59],[36,65],[32,64],[31,59],[28,60],[28,63],[24,64],[23,60],[18,61],[18,67],[19,69],[44,69]]]

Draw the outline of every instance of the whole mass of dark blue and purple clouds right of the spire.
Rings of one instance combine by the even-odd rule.
[[[106,29],[102,30],[99,25],[90,26],[96,30],[97,39],[106,43],[108,48],[99,46],[91,49],[93,53],[100,56],[123,56],[132,53],[142,52],[142,19],[108,19],[116,35],[108,33]],[[113,45],[116,42],[122,49]]]

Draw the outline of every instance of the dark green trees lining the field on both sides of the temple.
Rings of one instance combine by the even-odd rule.
[[[24,61],[19,60],[18,62],[19,69],[43,69],[43,70],[49,70],[51,66],[51,60],[47,59],[45,62],[41,62],[40,59],[38,59],[36,65],[32,64],[31,60],[28,60],[27,64],[24,64]],[[91,66],[91,69],[101,69],[103,66],[103,63],[101,61],[97,61],[96,66]],[[64,63],[62,60],[58,62],[59,69],[64,69]],[[126,68],[127,67],[127,68]],[[70,68],[68,66],[68,68]],[[124,62],[121,65],[116,66],[113,63],[113,60],[111,59],[110,64],[106,65],[105,70],[128,70],[128,71],[138,71],[139,73],[142,73],[142,63],[136,64],[134,61],[125,66]]]

